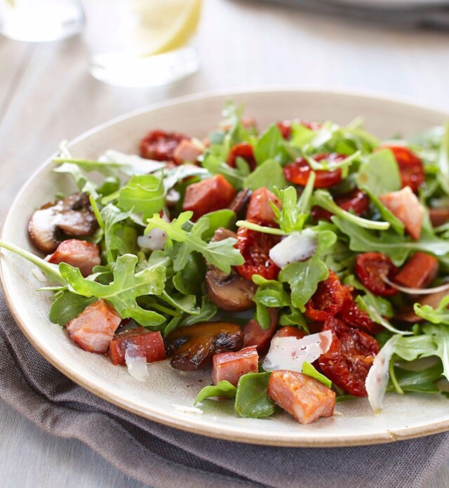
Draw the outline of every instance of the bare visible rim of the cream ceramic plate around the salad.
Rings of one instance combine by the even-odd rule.
[[[95,158],[109,148],[136,152],[150,128],[173,129],[206,136],[220,120],[225,100],[246,103],[246,113],[260,127],[272,121],[300,117],[333,119],[345,124],[355,117],[381,138],[395,133],[410,136],[449,117],[436,110],[365,95],[326,91],[280,90],[203,95],[173,100],[133,112],[83,134],[70,144],[75,156]],[[46,161],[25,183],[4,224],[3,239],[35,252],[27,236],[27,219],[55,192],[75,190],[69,176],[51,171]],[[223,439],[284,446],[341,446],[374,444],[449,430],[449,400],[439,395],[387,395],[381,414],[373,415],[366,399],[337,404],[341,415],[301,426],[288,414],[267,419],[239,418],[228,411],[204,408],[189,414],[175,405],[191,407],[196,393],[210,382],[208,372],[180,373],[168,362],[149,366],[151,379],[135,381],[107,357],[85,352],[69,341],[65,331],[48,320],[50,298],[35,291],[41,284],[30,273],[33,266],[7,251],[1,258],[6,299],[25,336],[63,374],[123,409],[169,426]]]

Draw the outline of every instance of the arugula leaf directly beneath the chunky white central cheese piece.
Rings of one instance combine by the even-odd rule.
[[[318,248],[314,256],[301,263],[291,263],[279,273],[279,281],[287,282],[291,289],[291,300],[301,312],[305,310],[305,304],[322,282],[329,275],[329,268],[321,260],[321,253],[332,247],[337,236],[330,230],[318,233]]]

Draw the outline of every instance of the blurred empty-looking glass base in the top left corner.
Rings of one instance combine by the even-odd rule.
[[[56,41],[82,27],[77,0],[0,0],[0,33],[16,41]]]

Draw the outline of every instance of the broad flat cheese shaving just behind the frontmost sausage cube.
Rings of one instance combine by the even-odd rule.
[[[265,371],[302,372],[304,361],[314,362],[327,352],[332,343],[332,331],[319,332],[303,338],[275,337],[272,339],[267,357],[262,364]]]

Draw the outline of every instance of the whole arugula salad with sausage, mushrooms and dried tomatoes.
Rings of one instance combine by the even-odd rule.
[[[78,191],[29,216],[43,257],[0,241],[36,265],[51,322],[138,381],[210,369],[195,404],[243,417],[448,396],[449,124],[380,141],[361,119],[223,114],[204,139],[149,131],[140,155],[60,145]]]

